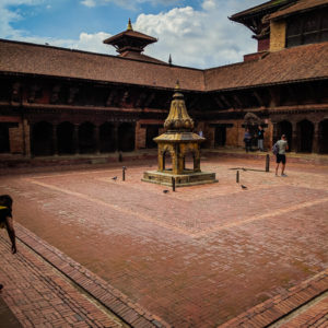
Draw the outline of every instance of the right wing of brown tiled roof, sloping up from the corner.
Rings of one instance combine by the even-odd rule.
[[[328,79],[328,43],[285,48],[258,60],[206,70],[204,79],[208,91]]]

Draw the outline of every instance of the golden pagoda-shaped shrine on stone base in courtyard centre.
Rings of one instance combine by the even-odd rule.
[[[192,132],[194,121],[178,82],[164,128],[166,132],[154,138],[159,145],[159,168],[144,172],[142,180],[165,186],[172,186],[174,180],[176,187],[218,183],[215,173],[200,171],[200,143],[206,139]],[[192,159],[192,167],[186,167],[187,157]]]

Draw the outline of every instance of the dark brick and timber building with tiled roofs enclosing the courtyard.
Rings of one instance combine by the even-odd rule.
[[[268,1],[230,19],[254,32],[258,52],[206,70],[143,55],[155,39],[130,23],[105,40],[118,56],[0,40],[0,152],[154,148],[179,80],[208,148],[243,147],[245,126],[262,125],[267,148],[285,133],[292,151],[328,153],[328,0]]]

